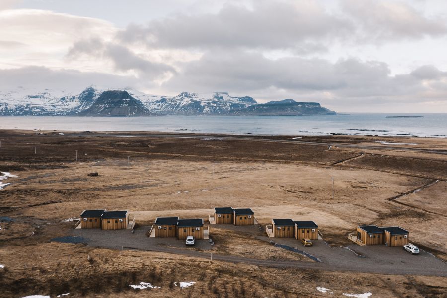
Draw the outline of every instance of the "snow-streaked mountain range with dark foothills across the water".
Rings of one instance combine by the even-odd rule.
[[[330,115],[318,103],[292,99],[258,104],[226,92],[149,95],[132,88],[87,87],[80,93],[17,88],[0,91],[0,116]]]

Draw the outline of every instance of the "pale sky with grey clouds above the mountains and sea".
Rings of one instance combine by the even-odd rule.
[[[0,90],[447,113],[445,0],[0,0]]]

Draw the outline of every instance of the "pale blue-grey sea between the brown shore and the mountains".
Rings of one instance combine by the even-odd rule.
[[[0,117],[0,129],[447,137],[447,113],[417,114],[423,118],[386,116],[410,115]]]

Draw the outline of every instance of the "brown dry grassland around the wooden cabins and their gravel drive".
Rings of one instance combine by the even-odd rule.
[[[79,217],[84,209],[126,209],[137,224],[149,225],[157,216],[207,219],[213,207],[232,206],[251,207],[261,226],[272,218],[313,220],[334,246],[352,243],[346,235],[359,224],[399,225],[410,231],[411,242],[447,259],[447,155],[408,151],[404,146],[401,150],[383,146],[328,149],[327,145],[221,140],[220,136],[2,131],[0,138],[0,171],[18,176],[3,181],[12,184],[0,190],[0,216],[13,219],[0,223],[0,264],[5,265],[0,269],[0,292],[4,297],[53,297],[68,292],[85,297],[111,293],[137,297],[143,293],[139,291],[150,291],[151,297],[327,297],[316,287],[331,289],[336,297],[364,292],[374,293],[373,297],[443,297],[446,291],[445,277],[210,263],[174,254],[120,252],[50,240],[67,235],[74,222],[65,220]],[[377,144],[373,142],[377,137],[300,140],[305,139]],[[447,148],[445,139],[383,139],[420,143],[422,149]],[[362,152],[363,156],[351,159]],[[100,176],[87,177],[89,172]],[[309,261],[263,241],[245,240],[247,235],[241,232],[219,227],[212,227],[213,231],[216,253]],[[128,286],[143,281],[161,288],[131,290]],[[180,289],[174,285],[180,281],[196,284]]]

